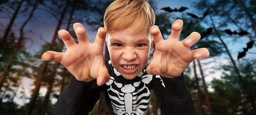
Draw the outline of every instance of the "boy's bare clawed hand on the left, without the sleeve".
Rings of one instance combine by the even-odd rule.
[[[79,44],[66,30],[59,30],[66,51],[45,52],[41,58],[45,61],[52,60],[60,62],[78,81],[93,81],[97,79],[100,86],[109,81],[110,76],[104,63],[103,46],[106,37],[106,29],[99,28],[94,43],[90,43],[86,30],[81,23],[74,24]]]

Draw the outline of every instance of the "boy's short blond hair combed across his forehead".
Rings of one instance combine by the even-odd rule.
[[[108,33],[112,30],[128,28],[134,22],[139,22],[134,32],[146,29],[145,31],[150,33],[155,15],[146,0],[115,0],[106,9],[104,27]]]

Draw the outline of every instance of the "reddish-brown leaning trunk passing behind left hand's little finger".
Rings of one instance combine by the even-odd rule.
[[[68,1],[66,2],[66,6],[64,7],[64,9],[63,9],[63,11],[62,11],[62,13],[61,13],[61,18],[60,18],[60,20],[58,21],[58,24],[57,24],[57,26],[56,26],[56,28],[55,28],[55,31],[54,31],[54,34],[53,34],[53,37],[52,37],[52,40],[51,40],[51,44],[50,44],[49,50],[52,50],[52,49],[53,49],[53,46],[54,46],[55,43],[56,43],[56,38],[57,38],[57,36],[58,36],[58,31],[60,30],[60,27],[61,27],[61,25],[62,25],[64,16],[65,16],[65,13],[66,13],[66,10],[67,10],[67,8],[68,8],[68,6],[69,6],[69,1],[70,1],[70,0],[68,0]],[[27,109],[26,109],[26,115],[31,115],[31,114],[32,114],[32,111],[33,111],[34,106],[35,106],[35,104],[36,104],[37,97],[38,97],[38,94],[39,94],[39,90],[40,90],[40,87],[41,87],[42,78],[43,78],[44,75],[45,75],[45,71],[46,71],[46,69],[47,69],[48,63],[49,63],[49,61],[44,61],[43,65],[42,65],[42,67],[41,67],[41,71],[40,71],[40,74],[39,74],[39,76],[38,76],[38,80],[37,80],[37,82],[36,82],[36,86],[35,86],[35,88],[34,88],[34,90],[33,90],[32,96],[31,96],[31,98],[30,98],[30,102],[29,102],[29,104],[28,104],[28,106],[27,106]]]

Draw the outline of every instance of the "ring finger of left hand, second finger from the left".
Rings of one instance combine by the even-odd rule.
[[[73,37],[66,30],[59,30],[58,34],[61,36],[65,46],[68,48],[69,46],[76,45],[77,43],[73,39]]]

